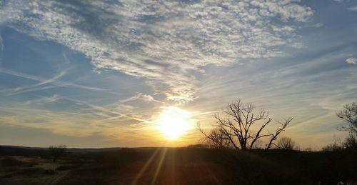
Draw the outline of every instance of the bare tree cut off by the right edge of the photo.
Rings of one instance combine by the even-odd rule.
[[[352,102],[343,106],[343,110],[337,112],[337,116],[347,121],[349,126],[341,127],[341,131],[349,131],[357,135],[357,103]]]

